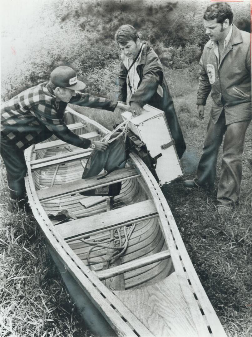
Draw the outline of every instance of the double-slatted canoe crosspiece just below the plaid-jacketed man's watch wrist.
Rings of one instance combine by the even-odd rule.
[[[30,163],[31,170],[34,171],[41,167],[63,164],[76,159],[83,159],[88,157],[91,154],[91,151],[92,150],[90,148],[87,148],[82,149],[81,151],[67,152],[60,155],[32,160]]]

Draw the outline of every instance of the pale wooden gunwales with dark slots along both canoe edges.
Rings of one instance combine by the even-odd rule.
[[[94,125],[98,129],[101,129],[105,134],[109,132],[109,130],[102,127],[100,124],[75,112],[73,109],[68,108],[67,111],[85,120],[87,123]],[[67,242],[58,235],[57,229],[53,226],[45,210],[41,206],[35,190],[32,169],[30,166],[33,148],[34,146],[25,151],[28,167],[28,176],[25,178],[27,195],[34,217],[39,223],[41,231],[46,237],[51,249],[53,249],[55,254],[65,262],[67,270],[72,274],[93,305],[100,311],[118,335],[153,336],[136,316],[125,307],[119,298],[100,281],[98,275],[90,271],[90,269],[68,246]],[[149,187],[149,191],[146,193],[151,193],[153,197],[160,218],[160,227],[170,251],[175,273],[178,276],[183,296],[188,303],[188,310],[193,317],[198,336],[210,336],[210,327],[213,333],[212,336],[225,337],[225,331],[199,281],[170,208],[158,183],[151,175],[147,166],[136,156],[136,154],[130,153],[130,158],[141,174],[140,181],[144,181]],[[198,307],[198,310],[194,310],[195,307]],[[204,317],[202,317],[202,311]],[[125,320],[132,328],[125,323]]]

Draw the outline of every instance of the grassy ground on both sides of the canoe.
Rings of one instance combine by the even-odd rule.
[[[187,143],[183,162],[186,177],[191,178],[201,155],[211,100],[205,120],[198,121],[195,80],[181,70],[167,70],[166,76],[169,84],[172,79],[170,88]],[[110,129],[119,120],[118,112],[87,109],[84,114]],[[196,272],[229,337],[248,337],[252,332],[251,129],[243,158],[240,204],[226,218],[219,216],[215,207],[220,158],[214,189],[186,189],[181,181],[162,187]],[[1,206],[0,335],[82,336],[78,312],[35,220],[7,211],[4,173]]]

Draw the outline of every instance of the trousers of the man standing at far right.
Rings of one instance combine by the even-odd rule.
[[[242,180],[242,154],[249,123],[250,121],[241,121],[226,125],[224,111],[216,124],[211,118],[209,120],[203,154],[194,181],[199,186],[214,185],[218,152],[225,135],[217,193],[217,202],[220,205],[235,204],[239,198]]]

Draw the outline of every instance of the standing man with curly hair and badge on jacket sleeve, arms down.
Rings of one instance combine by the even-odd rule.
[[[200,59],[199,120],[204,119],[211,91],[213,104],[197,175],[186,180],[184,186],[214,185],[224,136],[217,210],[219,214],[227,214],[239,198],[245,133],[251,120],[250,34],[232,24],[233,12],[225,2],[209,5],[203,19],[209,41]]]

